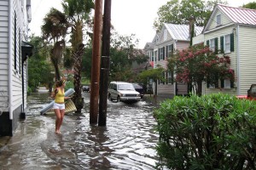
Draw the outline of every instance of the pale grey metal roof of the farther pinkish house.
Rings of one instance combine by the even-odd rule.
[[[166,29],[175,40],[189,40],[189,26],[187,25],[175,25],[175,24],[164,24]],[[195,26],[195,36],[201,34],[203,30],[202,26]]]

